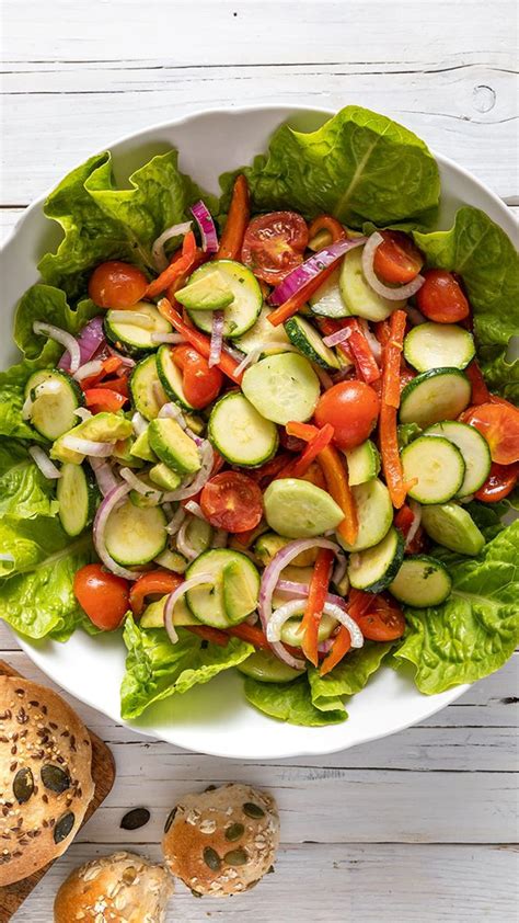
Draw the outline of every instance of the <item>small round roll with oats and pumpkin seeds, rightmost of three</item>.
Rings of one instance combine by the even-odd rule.
[[[249,785],[184,795],[168,817],[162,848],[172,875],[196,897],[224,898],[257,885],[279,845],[274,798]]]

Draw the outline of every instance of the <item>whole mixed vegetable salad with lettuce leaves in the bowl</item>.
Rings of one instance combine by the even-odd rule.
[[[425,694],[517,643],[518,261],[436,161],[348,106],[281,126],[219,200],[109,153],[48,196],[62,228],[0,374],[0,616],[118,631],[122,716],[244,674],[320,726],[385,661]],[[510,517],[508,516],[508,520]]]

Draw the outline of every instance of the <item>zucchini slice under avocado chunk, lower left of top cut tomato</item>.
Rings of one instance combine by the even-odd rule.
[[[233,260],[218,260],[205,263],[193,273],[189,284],[205,278],[215,270],[221,273],[226,285],[231,289],[234,298],[223,311],[223,337],[241,337],[256,322],[263,305],[263,295],[256,276],[242,263]],[[205,333],[211,332],[212,315],[210,311],[188,311],[195,327]]]

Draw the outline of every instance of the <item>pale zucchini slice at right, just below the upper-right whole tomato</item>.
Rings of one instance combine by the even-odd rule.
[[[475,356],[474,338],[455,323],[419,323],[404,340],[404,356],[417,372],[465,368]]]

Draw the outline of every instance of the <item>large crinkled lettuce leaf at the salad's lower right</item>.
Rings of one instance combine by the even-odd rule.
[[[443,556],[452,593],[443,605],[406,608],[408,630],[396,660],[414,664],[426,695],[487,676],[519,641],[519,520],[477,558]]]

